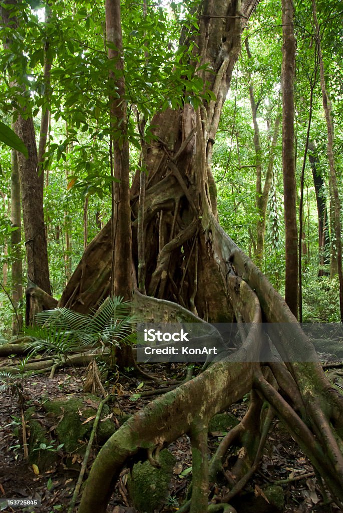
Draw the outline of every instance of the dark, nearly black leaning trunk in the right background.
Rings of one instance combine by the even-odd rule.
[[[325,184],[319,170],[319,158],[312,141],[309,142],[309,161],[312,169],[313,183],[316,194],[318,212],[318,247],[319,269],[318,276],[326,275],[324,266],[330,264],[330,233],[328,209],[326,206]]]

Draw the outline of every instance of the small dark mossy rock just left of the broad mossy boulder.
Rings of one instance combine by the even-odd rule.
[[[37,465],[39,471],[44,472],[56,463],[58,455],[54,450],[41,448],[45,445],[52,449],[52,444],[45,425],[41,424],[35,415],[36,409],[33,406],[25,412],[25,421],[29,426],[30,433],[28,439],[29,463]]]

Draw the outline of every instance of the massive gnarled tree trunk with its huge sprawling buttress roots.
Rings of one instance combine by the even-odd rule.
[[[146,151],[148,177],[143,212],[145,287],[149,296],[138,292],[134,276],[135,309],[145,312],[149,320],[236,319],[253,324],[243,337],[243,347],[233,356],[216,362],[196,379],[150,403],[116,431],[92,467],[79,513],[106,510],[120,469],[135,452],[144,454],[147,450],[153,460],[156,446],[168,444],[185,432],[190,435],[192,453],[196,455],[190,510],[207,511],[209,479],[216,479],[230,446],[228,441],[220,446],[207,468],[208,421],[251,388],[259,390],[288,427],[326,480],[334,500],[343,502],[343,458],[339,449],[342,397],[327,381],[312,344],[283,298],[217,220],[212,147],[241,45],[241,30],[254,5],[253,0],[202,5],[194,52],[199,53],[200,65],[209,63],[214,70],[201,69],[198,73],[208,82],[216,100],[204,101],[196,110],[185,103],[183,109],[157,113],[152,120],[155,137]],[[139,190],[142,187],[139,188],[137,175],[131,188],[132,267],[136,274]],[[60,306],[85,312],[110,293],[111,233],[109,222],[88,245]],[[288,325],[287,336],[275,325],[270,334],[286,364],[274,362],[260,367],[262,318]],[[237,443],[237,438],[246,456],[243,463],[237,461],[234,466],[235,481],[230,493],[218,501],[229,502],[258,463],[258,450],[252,442],[257,437],[262,446],[264,443],[265,429],[262,432],[256,427],[260,425],[260,411],[261,401],[252,392],[247,415],[235,436],[231,436],[231,443],[233,439]]]

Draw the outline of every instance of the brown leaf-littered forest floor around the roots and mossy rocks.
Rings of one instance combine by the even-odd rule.
[[[158,375],[160,380],[158,385],[152,382],[145,382],[141,386],[141,380],[129,376],[120,378],[120,386],[116,385],[116,404],[119,406],[120,415],[132,415],[154,398],[154,396],[142,397],[140,394],[152,390],[153,387],[168,386],[168,383],[175,379],[183,380],[186,371],[185,366],[174,366],[173,364],[169,368],[156,364],[153,368],[150,366],[146,370],[148,372],[153,370]],[[81,369],[80,372],[84,372],[84,369]],[[52,379],[49,379],[44,374],[35,374],[25,378],[22,385],[25,395],[24,408],[32,405],[36,406],[37,409],[40,408],[43,397],[56,398],[66,397],[72,393],[82,394],[82,383],[75,369],[60,370]],[[105,388],[106,385],[105,383]],[[110,384],[108,384],[107,389],[111,391]],[[240,420],[244,416],[246,404],[246,401],[241,401],[238,404],[232,405],[229,411]],[[115,408],[113,411],[115,413],[112,420],[118,426],[116,416],[118,411]],[[209,448],[211,452],[218,445],[220,436],[223,436],[223,433],[209,433]],[[88,468],[94,460],[97,450],[98,447],[95,447],[91,453]],[[160,510],[160,513],[177,511],[179,504],[185,498],[187,485],[191,477],[191,469],[189,472],[187,471],[191,467],[188,437],[184,436],[176,440],[169,446],[169,450],[175,456],[176,464],[173,479],[170,483],[168,504]],[[33,467],[24,458],[21,408],[15,397],[12,397],[8,390],[2,392],[0,403],[0,455],[0,502],[2,498],[25,499],[30,497],[41,499],[41,507],[22,508],[22,511],[39,511],[40,513],[67,511],[78,478],[82,458],[74,457],[75,464],[70,468],[66,464],[66,455],[61,451],[57,463],[52,468],[36,475]],[[124,470],[120,476],[119,483],[108,507],[108,512],[110,513],[134,513],[136,511],[130,504],[127,491],[128,472],[128,469]],[[323,504],[320,487],[314,476],[313,467],[289,436],[283,425],[275,420],[259,470],[249,482],[246,490],[251,492],[252,498],[254,495],[263,497],[263,489],[266,485],[273,484],[274,482],[280,484],[280,481],[285,481],[282,483],[285,493],[285,511],[293,511],[294,513],[339,511],[335,506],[325,506]],[[223,488],[218,486],[212,491],[217,494],[222,490]],[[0,511],[7,513],[15,511],[15,509],[4,507],[0,508]],[[254,511],[254,507],[252,505],[251,509],[249,509],[249,505],[246,504],[244,513],[249,513],[249,511]],[[264,511],[272,513],[275,509],[268,508],[266,503]]]

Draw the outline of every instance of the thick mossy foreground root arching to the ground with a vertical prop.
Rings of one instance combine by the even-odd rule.
[[[260,351],[261,312],[255,294],[240,279],[229,280],[231,293],[253,324],[236,362],[217,362],[200,376],[148,404],[129,419],[100,450],[85,486],[80,513],[106,511],[113,486],[126,460],[139,449],[169,444],[189,433],[193,454],[191,511],[207,511],[207,430],[215,413],[227,408],[252,388]],[[156,300],[155,300],[156,301]],[[167,303],[167,302],[165,302]],[[175,308],[175,305],[174,305]],[[244,360],[246,355],[246,361]],[[203,397],[209,400],[204,403]],[[206,464],[205,464],[206,462]],[[102,495],[99,497],[99,489]]]

